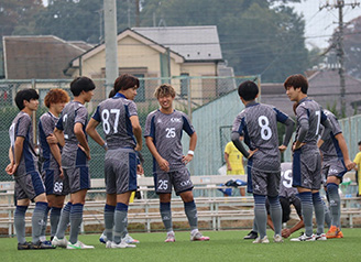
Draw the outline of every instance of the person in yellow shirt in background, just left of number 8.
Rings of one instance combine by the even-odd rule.
[[[228,142],[225,148],[225,160],[227,163],[227,175],[244,175],[243,155],[234,146],[233,142]],[[241,196],[245,196],[245,189],[240,188]]]

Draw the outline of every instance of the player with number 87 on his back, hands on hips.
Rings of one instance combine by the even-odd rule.
[[[107,150],[106,248],[135,248],[134,244],[127,243],[131,238],[127,225],[129,199],[132,192],[136,190],[136,170],[143,173],[136,156],[142,149],[142,129],[133,101],[138,88],[136,77],[128,74],[118,77],[110,95],[114,96],[99,103],[86,129],[90,138]],[[107,142],[96,130],[100,122]]]

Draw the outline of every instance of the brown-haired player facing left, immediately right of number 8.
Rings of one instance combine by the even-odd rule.
[[[319,125],[330,130],[330,123],[322,108],[307,97],[308,81],[303,75],[292,75],[284,87],[291,101],[297,102],[297,130],[293,144],[293,186],[297,187],[302,203],[305,233],[291,241],[326,240],[324,233],[325,210],[319,195],[321,185],[321,159],[317,148]],[[315,208],[317,233],[313,233],[313,210]]]

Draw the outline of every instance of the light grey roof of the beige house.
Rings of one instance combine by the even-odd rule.
[[[222,59],[216,25],[133,28],[132,30],[169,47],[186,61]]]

